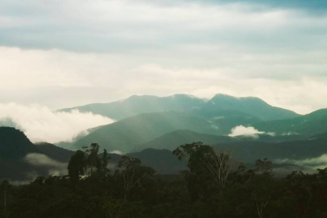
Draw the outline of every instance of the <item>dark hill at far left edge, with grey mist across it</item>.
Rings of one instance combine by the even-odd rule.
[[[13,127],[0,127],[0,179],[31,181],[36,176],[62,174],[74,154],[49,143],[31,143]]]

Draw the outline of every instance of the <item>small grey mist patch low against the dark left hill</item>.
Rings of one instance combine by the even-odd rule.
[[[49,158],[44,154],[39,153],[29,153],[25,156],[24,160],[37,167],[46,167],[48,169],[49,175],[53,176],[63,176],[67,175],[67,165],[68,163],[62,163]]]

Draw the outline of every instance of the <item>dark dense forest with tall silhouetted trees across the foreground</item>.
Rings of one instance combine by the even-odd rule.
[[[216,152],[199,142],[173,151],[176,158],[187,160],[188,170],[158,175],[129,156],[109,170],[107,151],[99,151],[96,143],[78,150],[66,176],[39,176],[18,186],[4,180],[1,216],[327,217],[327,168],[276,178],[268,159],[258,159],[247,169],[228,151]]]

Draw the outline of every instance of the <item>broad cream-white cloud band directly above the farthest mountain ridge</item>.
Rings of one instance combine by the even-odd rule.
[[[260,55],[256,58],[260,59]],[[269,58],[267,56],[267,60]],[[228,55],[221,59],[232,62]],[[192,65],[194,61],[188,60]],[[278,70],[288,75],[287,67],[283,70],[275,68],[274,64],[262,63],[263,78],[258,78],[259,75],[251,72],[258,70],[259,66],[241,57],[232,67],[226,68],[216,60],[217,65],[207,69],[165,67],[165,64],[146,64],[144,61],[139,57],[121,55],[0,47],[0,92],[6,92],[0,96],[0,102],[39,103],[59,109],[115,101],[132,94],[167,96],[186,93],[210,98],[216,93],[225,93],[260,97],[273,106],[298,113],[327,107],[323,101],[327,98],[327,77],[309,75],[278,80],[269,72]],[[298,64],[296,71],[301,67],[301,63]],[[318,68],[325,69],[319,64]],[[245,75],[248,77],[244,78]]]

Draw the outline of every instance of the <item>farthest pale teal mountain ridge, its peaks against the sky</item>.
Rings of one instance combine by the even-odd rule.
[[[287,119],[299,114],[278,107],[273,107],[257,97],[233,97],[226,94],[216,94],[212,99],[201,99],[193,95],[175,94],[167,97],[153,95],[132,95],[127,99],[111,103],[94,103],[58,111],[78,109],[81,112],[93,112],[115,120],[121,120],[140,113],[162,111],[181,111],[208,116],[218,111],[238,111],[243,115],[258,117],[262,120]]]

